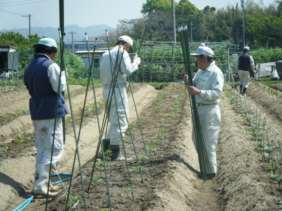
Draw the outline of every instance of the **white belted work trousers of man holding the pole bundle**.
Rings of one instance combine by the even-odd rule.
[[[207,150],[209,165],[211,173],[216,173],[216,152],[215,147],[219,134],[220,127],[220,110],[217,104],[197,106],[200,124],[204,137],[204,142]],[[197,151],[196,137],[194,132],[194,125],[192,121],[192,141]],[[208,166],[205,166],[207,174],[210,172]]]

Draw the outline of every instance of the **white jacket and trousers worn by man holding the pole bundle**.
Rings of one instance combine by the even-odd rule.
[[[215,62],[206,69],[199,69],[193,78],[194,87],[201,90],[200,96],[195,95],[197,104],[209,104],[197,106],[200,124],[207,150],[207,156],[211,167],[210,173],[216,173],[216,152],[215,147],[220,127],[220,110],[217,103],[222,94],[223,74],[215,65]],[[185,88],[189,90],[188,84]],[[192,141],[197,150],[194,125],[192,122]],[[206,172],[209,172],[206,166]]]

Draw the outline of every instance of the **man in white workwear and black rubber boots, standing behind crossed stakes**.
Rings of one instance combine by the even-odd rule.
[[[133,45],[133,40],[129,36],[124,35],[118,39],[118,41],[116,42],[116,46],[112,50],[110,50],[110,56],[113,66],[114,64],[116,64],[116,60],[118,60],[117,65],[120,64],[121,59],[123,60],[121,61],[120,67],[119,66],[116,67],[116,69],[118,70],[116,71],[117,81],[116,84],[114,85],[113,84],[111,85],[112,81],[115,81],[115,79],[113,80],[112,78],[112,74],[114,75],[114,78],[115,78],[115,74],[114,74],[114,67],[113,66],[111,67],[109,52],[104,53],[101,57],[100,82],[103,84],[102,95],[105,103],[104,104],[105,109],[107,110],[110,107],[110,112],[108,116],[110,126],[106,134],[106,139],[103,139],[102,144],[103,144],[104,152],[108,149],[112,151],[111,160],[114,161],[125,160],[125,158],[121,155],[120,144],[124,137],[124,132],[128,127],[126,116],[127,118],[129,118],[128,98],[125,89],[127,87],[126,76],[127,74],[135,72],[135,70],[137,70],[138,65],[141,62],[140,58],[136,55],[133,59],[133,63],[131,63],[128,53],[133,53],[132,45]],[[123,53],[123,57],[121,58],[122,53]],[[122,97],[120,96],[118,90],[118,84],[121,90]],[[108,100],[108,96],[111,97],[111,91],[113,90],[113,86],[114,86],[114,93],[116,96],[116,102],[114,95],[112,95],[113,97],[111,99],[111,104],[109,106],[106,105],[106,102],[108,102],[108,104],[110,103],[110,99]],[[123,107],[123,104],[125,109]],[[129,159],[131,158],[127,158],[127,160]]]

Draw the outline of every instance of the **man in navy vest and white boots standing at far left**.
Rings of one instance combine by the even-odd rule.
[[[47,196],[49,168],[51,162],[51,148],[54,137],[52,167],[55,168],[63,156],[63,124],[62,117],[67,113],[63,95],[67,88],[65,72],[61,74],[55,57],[58,52],[54,39],[43,38],[33,45],[35,55],[24,73],[25,86],[31,96],[29,108],[32,124],[34,126],[34,146],[37,148],[35,182],[32,193]],[[59,90],[58,90],[59,86]],[[57,93],[59,106],[54,133]],[[58,186],[49,187],[49,197],[58,195]]]

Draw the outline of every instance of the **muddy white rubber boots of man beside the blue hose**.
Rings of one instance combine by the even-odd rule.
[[[50,165],[39,164],[36,166],[34,185],[32,187],[32,194],[36,196],[47,197],[47,185],[49,177],[49,167]],[[51,188],[51,187],[50,187]],[[50,189],[49,188],[49,189]],[[57,196],[58,192],[50,192],[49,197]]]

